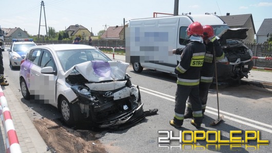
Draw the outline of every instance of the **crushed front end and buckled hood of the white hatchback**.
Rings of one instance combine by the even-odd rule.
[[[80,106],[82,118],[101,128],[144,119],[139,86],[131,83],[128,66],[120,61],[89,61],[65,73],[76,94],[71,103]]]

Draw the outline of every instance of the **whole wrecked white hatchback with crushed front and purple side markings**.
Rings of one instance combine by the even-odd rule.
[[[138,86],[126,73],[128,63],[112,61],[87,45],[30,48],[20,69],[23,97],[57,107],[65,123],[88,120],[101,128],[144,118]]]

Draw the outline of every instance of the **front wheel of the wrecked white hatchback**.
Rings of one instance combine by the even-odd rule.
[[[81,114],[79,105],[71,104],[65,97],[62,97],[60,106],[64,122],[67,125],[75,125]]]

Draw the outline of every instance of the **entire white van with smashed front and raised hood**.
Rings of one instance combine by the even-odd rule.
[[[253,66],[252,52],[241,40],[246,39],[248,28],[229,29],[219,16],[213,14],[130,20],[126,30],[126,62],[132,63],[138,73],[143,68],[174,73],[180,55],[173,54],[172,50],[185,47],[189,39],[186,29],[193,22],[212,26],[215,35],[220,37],[227,58],[217,67],[220,80],[247,78]]]

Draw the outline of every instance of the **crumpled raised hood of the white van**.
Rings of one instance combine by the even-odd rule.
[[[249,28],[232,28],[223,30],[218,37],[220,37],[220,44],[225,45],[226,40],[236,39],[236,40],[244,40],[247,37],[246,32]]]

